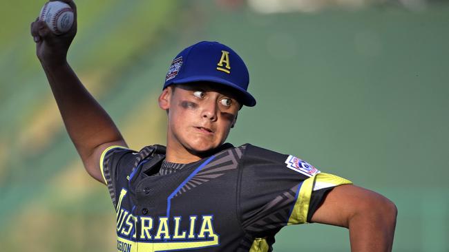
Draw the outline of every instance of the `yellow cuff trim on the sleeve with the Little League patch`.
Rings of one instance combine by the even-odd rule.
[[[311,178],[307,178],[300,186],[296,202],[287,224],[307,223],[307,213],[309,212],[312,191],[347,184],[352,184],[352,182],[332,174],[320,173]]]

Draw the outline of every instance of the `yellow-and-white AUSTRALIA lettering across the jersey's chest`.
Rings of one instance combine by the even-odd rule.
[[[184,220],[182,216],[134,216],[128,209],[120,207],[125,195],[126,190],[122,189],[117,204],[118,251],[137,251],[137,244],[139,251],[195,249],[219,244],[219,235],[213,228],[213,215],[189,216]],[[173,225],[169,225],[170,221]],[[187,226],[183,222],[187,222]],[[188,228],[182,230],[180,227]]]

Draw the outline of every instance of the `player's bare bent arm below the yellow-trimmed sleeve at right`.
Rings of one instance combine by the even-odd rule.
[[[312,222],[350,229],[351,251],[391,251],[397,208],[379,193],[354,185],[330,191]]]

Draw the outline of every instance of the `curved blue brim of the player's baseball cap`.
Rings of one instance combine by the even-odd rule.
[[[164,85],[164,87],[168,87],[172,84],[184,84],[184,83],[191,83],[191,82],[197,82],[197,81],[210,81],[213,83],[218,83],[225,85],[227,87],[233,88],[233,90],[236,90],[238,92],[238,96],[242,98],[242,103],[245,106],[248,107],[254,107],[256,105],[256,99],[247,92],[247,90],[242,89],[242,87],[239,87],[238,85],[231,83],[230,81],[226,81],[222,78],[215,78],[213,76],[190,76],[188,78],[180,78],[175,81],[170,81]]]

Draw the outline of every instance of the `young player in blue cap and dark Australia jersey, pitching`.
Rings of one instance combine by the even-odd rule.
[[[117,251],[272,251],[287,224],[350,230],[352,251],[391,251],[397,209],[390,200],[318,171],[292,155],[225,140],[247,91],[245,63],[202,41],[182,50],[158,103],[166,147],[128,149],[117,127],[66,61],[76,31],[55,36],[31,25],[37,56],[88,174],[107,185],[117,212]]]

